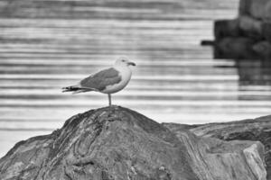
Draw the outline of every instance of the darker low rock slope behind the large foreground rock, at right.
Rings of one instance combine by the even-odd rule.
[[[245,121],[230,121],[193,126],[165,123],[164,126],[175,131],[191,130],[196,135],[205,138],[260,141],[265,145],[267,179],[271,179],[271,116]]]

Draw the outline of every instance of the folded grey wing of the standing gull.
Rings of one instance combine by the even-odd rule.
[[[107,88],[108,85],[115,85],[120,81],[121,76],[119,71],[114,67],[110,67],[84,78],[80,81],[79,85],[82,88],[91,88],[102,91]]]

